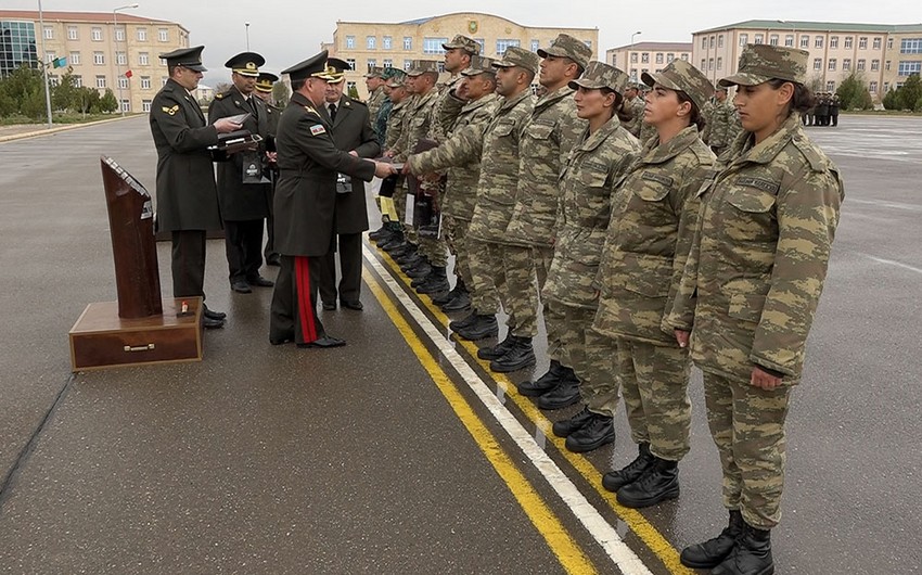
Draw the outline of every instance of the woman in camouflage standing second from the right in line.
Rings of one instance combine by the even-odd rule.
[[[689,451],[691,361],[665,323],[673,309],[697,221],[697,192],[714,167],[699,138],[701,110],[714,86],[674,60],[641,78],[652,88],[644,123],[658,137],[615,191],[599,278],[596,331],[614,338],[622,395],[639,455],[606,473],[602,485],[629,508],[679,495],[678,462]]]

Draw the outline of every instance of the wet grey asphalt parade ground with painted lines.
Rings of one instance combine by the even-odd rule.
[[[922,573],[922,118],[840,119],[808,128],[846,200],[777,573]],[[343,348],[269,345],[271,289],[231,292],[212,240],[229,320],[203,361],[72,373],[67,331],[115,299],[101,155],[153,195],[144,117],[0,143],[0,572],[694,573],[678,550],[726,524],[700,374],[681,496],[625,509],[600,483],[636,455],[623,408],[614,445],[569,453],[550,426],[577,408],[515,391],[543,340],[534,370],[491,373],[371,243],[364,310],[322,311]]]

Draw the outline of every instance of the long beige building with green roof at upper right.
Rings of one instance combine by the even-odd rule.
[[[751,20],[694,33],[692,63],[717,80],[735,73],[747,43],[807,50],[810,88],[835,91],[854,73],[878,102],[910,75],[922,73],[922,24]]]

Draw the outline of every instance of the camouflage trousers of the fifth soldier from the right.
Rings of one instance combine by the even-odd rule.
[[[502,246],[502,265],[505,271],[505,293],[502,301],[509,315],[512,334],[517,337],[538,335],[538,281],[535,274],[533,248],[517,245]]]

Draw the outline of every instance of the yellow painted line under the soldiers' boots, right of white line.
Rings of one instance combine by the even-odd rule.
[[[386,252],[377,251],[377,255],[383,257],[390,270],[395,272],[395,276],[409,288],[409,279],[400,270],[400,266],[398,266]],[[448,327],[449,318],[441,311],[441,309],[435,306],[427,297],[420,297],[420,301],[422,301],[425,308],[428,309],[428,311],[438,320],[441,327]],[[609,503],[609,507],[611,507],[615,514],[627,524],[628,528],[630,528],[630,531],[632,531],[638,538],[640,538],[640,540],[643,541],[651,551],[653,551],[666,568],[669,570],[669,573],[675,575],[696,574],[695,571],[681,564],[679,561],[679,551],[673,547],[673,545],[656,529],[656,527],[653,526],[653,524],[646,521],[646,518],[644,518],[641,512],[636,509],[622,506],[618,503],[615,494],[602,487],[602,474],[599,473],[599,470],[597,470],[596,467],[581,455],[574,453],[566,449],[564,446],[566,439],[556,437],[551,432],[553,423],[549,421],[537,407],[535,407],[535,404],[533,404],[529,398],[518,393],[515,384],[513,384],[508,376],[502,373],[495,373],[490,371],[489,361],[477,358],[478,348],[473,342],[458,337],[457,343],[466,349],[471,358],[479,363],[479,366],[490,374],[494,381],[503,388],[505,395],[512,399],[525,417],[545,433],[547,439],[551,442],[561,455],[571,463],[571,465],[573,465],[574,469],[576,469],[576,471],[579,472],[587,482],[589,482],[592,488],[596,489],[606,503]]]

